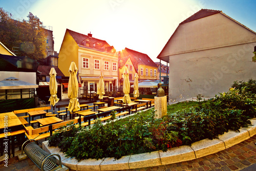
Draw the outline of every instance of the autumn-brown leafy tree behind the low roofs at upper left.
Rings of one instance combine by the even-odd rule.
[[[47,32],[37,16],[29,13],[28,21],[13,19],[12,15],[0,8],[0,41],[18,56],[28,56],[41,61],[46,57]]]

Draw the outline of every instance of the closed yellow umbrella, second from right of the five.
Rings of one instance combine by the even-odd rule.
[[[125,67],[123,71],[123,93],[124,96],[122,98],[124,103],[131,103],[130,98],[130,81],[129,81],[129,71],[128,68]]]

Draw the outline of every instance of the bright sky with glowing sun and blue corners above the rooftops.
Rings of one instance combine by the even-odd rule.
[[[19,19],[36,15],[52,29],[59,52],[66,29],[93,34],[117,51],[129,48],[157,56],[179,23],[201,9],[221,10],[256,32],[255,0],[0,0]]]

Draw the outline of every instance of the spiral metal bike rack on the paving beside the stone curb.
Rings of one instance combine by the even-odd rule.
[[[27,143],[28,141],[32,142]],[[25,145],[26,143],[27,145]],[[23,148],[24,145],[25,147]],[[47,153],[36,144],[34,139],[27,140],[23,143],[22,155],[24,152],[41,171],[53,171],[62,168],[60,156],[58,154]],[[57,159],[54,156],[59,158],[59,165],[57,165]]]

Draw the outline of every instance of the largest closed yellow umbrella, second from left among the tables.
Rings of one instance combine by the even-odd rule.
[[[76,68],[76,63],[71,62],[71,65],[69,67],[69,86],[68,86],[68,97],[70,98],[69,100],[69,107],[68,110],[69,112],[76,112],[80,110],[80,105],[78,102],[77,94],[78,94],[78,80],[76,78],[77,74],[77,68]]]

